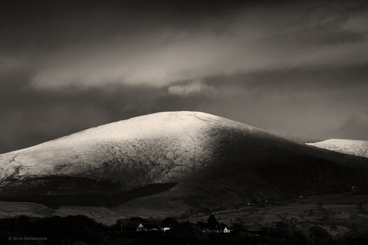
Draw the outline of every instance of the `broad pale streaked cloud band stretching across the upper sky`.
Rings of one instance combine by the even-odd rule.
[[[43,50],[32,86],[163,87],[215,75],[356,66],[368,60],[368,28],[361,25],[366,19],[355,10],[356,4],[240,6],[220,16],[198,13],[193,19],[180,14],[175,19],[162,12],[151,14],[149,21],[132,14],[123,21],[115,13],[106,17],[104,26],[109,32],[104,31],[102,37],[90,41],[90,35],[95,38],[92,33],[86,32],[86,37],[77,33],[77,44],[63,43],[52,52]],[[116,20],[122,21],[121,27]],[[101,23],[95,21],[101,18],[90,23],[101,32]],[[112,21],[115,24],[110,25]],[[77,30],[70,32],[68,36]]]

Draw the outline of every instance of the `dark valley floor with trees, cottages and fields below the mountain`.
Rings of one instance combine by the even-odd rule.
[[[82,215],[55,217],[51,208],[44,209],[39,204],[14,204],[0,204],[3,242],[7,237],[37,235],[48,237],[37,244],[368,244],[368,193],[365,191],[266,200],[212,211],[217,224],[230,228],[231,233],[211,231],[210,213],[186,213],[177,221],[174,219],[177,223],[168,232],[136,232],[139,222],[162,224],[163,220],[130,217],[106,225]],[[39,213],[17,210],[30,207]],[[92,217],[95,212],[106,218],[113,215],[108,208],[95,208],[85,214]],[[38,218],[27,217],[35,215]],[[27,241],[26,244],[36,243]]]

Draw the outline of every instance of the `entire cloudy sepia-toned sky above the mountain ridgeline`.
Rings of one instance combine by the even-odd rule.
[[[367,1],[0,4],[0,153],[168,110],[368,140]]]

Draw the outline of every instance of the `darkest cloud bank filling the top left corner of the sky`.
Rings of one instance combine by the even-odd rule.
[[[127,41],[160,29],[197,28],[209,17],[228,18],[236,1],[7,1],[1,5],[1,43],[8,50],[29,46],[53,50],[99,43],[124,35]],[[121,41],[121,40],[119,40]]]

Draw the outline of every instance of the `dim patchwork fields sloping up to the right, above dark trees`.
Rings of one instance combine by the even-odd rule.
[[[306,231],[318,224],[332,237],[340,237],[358,226],[368,234],[368,194],[363,191],[314,195],[289,199],[248,203],[231,210],[213,212],[219,222],[240,224],[246,229],[259,230],[274,222],[289,222]],[[196,214],[180,219],[192,223],[204,222],[207,214]]]

